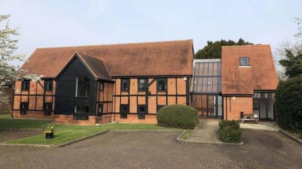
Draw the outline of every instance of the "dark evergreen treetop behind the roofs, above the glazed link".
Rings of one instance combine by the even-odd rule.
[[[196,52],[196,59],[216,59],[221,58],[221,46],[238,46],[238,45],[253,45],[253,43],[245,42],[242,38],[235,42],[233,40],[220,40],[216,42],[208,41],[208,45]]]

